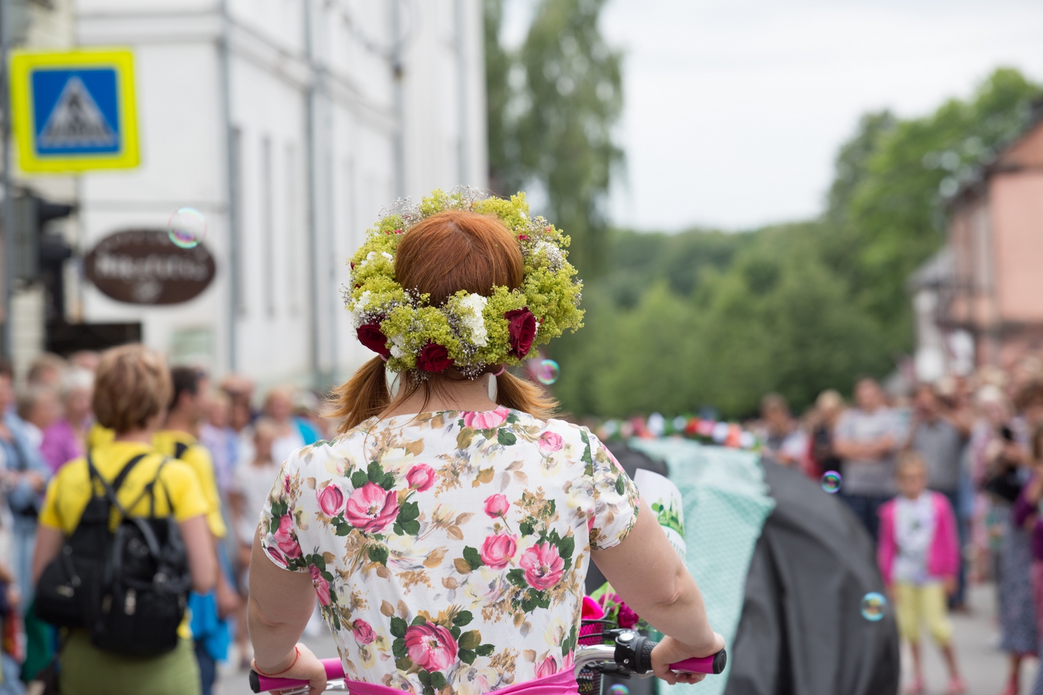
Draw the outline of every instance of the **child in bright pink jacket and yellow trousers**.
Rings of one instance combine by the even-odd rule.
[[[949,668],[946,693],[957,695],[966,686],[956,668],[946,609],[960,567],[955,515],[945,495],[927,490],[927,467],[919,453],[902,454],[897,481],[899,495],[880,507],[877,559],[895,605],[898,631],[913,652],[914,678],[907,692],[924,692],[920,623],[926,622]]]

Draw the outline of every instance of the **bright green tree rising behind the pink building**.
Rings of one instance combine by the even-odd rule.
[[[966,101],[902,120],[877,139],[847,194],[841,238],[853,252],[853,291],[880,322],[887,349],[908,349],[905,280],[945,242],[945,203],[977,167],[1024,128],[1040,86],[1011,69],[993,72]]]

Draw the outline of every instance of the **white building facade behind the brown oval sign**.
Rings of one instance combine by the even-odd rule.
[[[137,169],[65,187],[76,246],[163,229],[191,206],[217,267],[202,294],[167,306],[79,280],[77,318],[141,322],[146,344],[216,375],[324,386],[350,374],[371,353],[340,288],[380,208],[485,185],[480,0],[75,0],[70,11],[74,45],[132,49],[141,146]]]

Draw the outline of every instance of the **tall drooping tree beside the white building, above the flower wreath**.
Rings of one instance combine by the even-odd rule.
[[[516,53],[500,45],[500,1],[485,4],[490,179],[506,187],[500,193],[540,184],[587,278],[605,265],[605,196],[623,162],[611,139],[623,108],[622,56],[601,35],[604,4],[542,0]]]

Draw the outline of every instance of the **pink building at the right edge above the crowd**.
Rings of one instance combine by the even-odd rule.
[[[921,378],[1043,348],[1043,108],[952,199],[947,246],[911,278]]]

